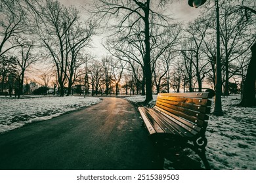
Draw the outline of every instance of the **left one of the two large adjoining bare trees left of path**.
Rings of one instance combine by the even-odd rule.
[[[60,96],[64,96],[68,70],[68,31],[72,29],[78,18],[78,11],[74,7],[66,8],[58,1],[45,1],[37,8],[37,34],[47,48],[56,67]]]

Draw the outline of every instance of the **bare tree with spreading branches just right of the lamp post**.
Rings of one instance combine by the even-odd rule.
[[[229,79],[235,74],[230,72],[232,62],[245,54],[256,41],[256,37],[248,30],[249,21],[246,21],[246,14],[234,12],[228,16],[227,12],[232,11],[234,5],[231,2],[223,3],[224,15],[221,16],[221,42],[224,50],[224,95],[229,95]]]

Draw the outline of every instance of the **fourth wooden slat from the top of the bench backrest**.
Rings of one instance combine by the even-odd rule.
[[[161,101],[157,101],[156,102],[157,106],[164,106],[164,107],[168,107],[170,109],[173,109],[175,111],[179,111],[182,114],[186,114],[188,116],[194,116],[195,118],[198,118],[200,120],[208,120],[209,116],[207,116],[206,114],[203,114],[201,112],[196,112],[194,110],[191,110],[190,108],[184,108],[184,107],[179,107],[179,106],[175,106],[175,105],[169,105],[168,103],[163,103]],[[179,115],[179,116],[181,116]]]

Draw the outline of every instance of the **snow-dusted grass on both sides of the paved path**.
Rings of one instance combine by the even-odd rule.
[[[145,98],[131,96],[125,99],[137,103]],[[98,102],[100,99],[97,97],[80,96],[23,99],[0,97],[0,133]],[[154,106],[155,102],[156,95],[150,106]],[[239,95],[224,97],[224,116],[210,115],[206,133],[206,156],[212,169],[256,169],[256,108],[236,107],[239,102]],[[165,159],[165,169],[173,169],[172,161]]]

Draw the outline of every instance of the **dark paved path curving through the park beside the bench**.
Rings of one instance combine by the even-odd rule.
[[[135,107],[120,98],[0,134],[0,169],[156,169]]]

